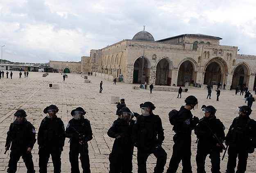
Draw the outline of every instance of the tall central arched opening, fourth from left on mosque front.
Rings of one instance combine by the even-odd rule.
[[[204,84],[208,86],[217,85],[221,83],[221,68],[217,62],[211,62],[204,73]]]

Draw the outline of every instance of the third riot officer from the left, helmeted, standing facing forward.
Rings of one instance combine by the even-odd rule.
[[[90,173],[87,143],[93,139],[90,121],[84,118],[86,111],[82,107],[73,109],[70,114],[73,118],[68,122],[66,137],[70,138],[69,162],[71,164],[71,172],[80,173],[78,164],[78,155],[80,153],[83,173]]]

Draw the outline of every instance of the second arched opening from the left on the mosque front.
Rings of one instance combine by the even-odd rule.
[[[160,60],[156,65],[156,84],[170,86],[172,81],[172,64],[166,58]]]

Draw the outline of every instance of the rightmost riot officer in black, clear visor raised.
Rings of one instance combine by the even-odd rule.
[[[225,138],[225,144],[229,146],[226,173],[235,173],[237,157],[236,172],[245,173],[248,153],[253,153],[256,148],[256,122],[249,117],[251,111],[248,106],[239,106],[235,110],[239,116],[233,120]]]

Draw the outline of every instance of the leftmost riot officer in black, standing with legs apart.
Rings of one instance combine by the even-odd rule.
[[[35,173],[31,151],[36,142],[35,127],[27,121],[26,112],[19,109],[14,113],[16,120],[11,123],[6,138],[5,150],[9,150],[11,144],[11,153],[9,160],[9,168],[7,173],[15,173],[17,171],[17,162],[20,157],[27,167],[27,173]]]

